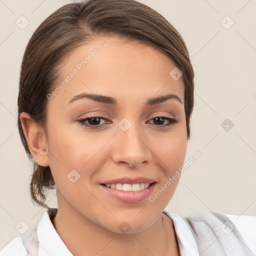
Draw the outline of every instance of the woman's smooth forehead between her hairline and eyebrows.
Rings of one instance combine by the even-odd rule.
[[[63,63],[55,84],[61,89],[54,100],[67,103],[73,96],[86,92],[138,102],[174,93],[183,103],[182,76],[172,78],[169,72],[175,63],[156,47],[113,36],[98,37],[74,48]]]

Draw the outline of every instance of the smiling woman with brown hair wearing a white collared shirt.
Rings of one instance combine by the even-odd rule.
[[[30,193],[47,211],[0,255],[254,255],[254,216],[244,233],[232,215],[164,211],[190,137],[193,77],[177,30],[135,0],[47,17],[26,46],[18,94]]]

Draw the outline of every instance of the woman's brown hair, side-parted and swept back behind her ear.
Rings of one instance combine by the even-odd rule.
[[[182,71],[187,139],[193,109],[194,73],[186,45],[178,31],[157,11],[136,0],[87,0],[66,4],[49,15],[34,31],[26,46],[20,70],[18,130],[26,154],[33,162],[30,182],[32,202],[44,203],[44,190],[55,188],[50,167],[32,158],[19,115],[27,112],[40,126],[47,119],[47,94],[59,77],[63,59],[75,47],[97,36],[117,35],[156,47]]]

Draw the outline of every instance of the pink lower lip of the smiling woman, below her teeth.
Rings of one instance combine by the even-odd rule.
[[[100,186],[111,196],[126,202],[126,203],[136,203],[139,202],[146,197],[150,195],[150,193],[153,191],[154,186],[156,183],[151,184],[145,189],[139,190],[139,191],[123,191],[118,190],[115,188],[109,188],[107,186],[101,185]]]

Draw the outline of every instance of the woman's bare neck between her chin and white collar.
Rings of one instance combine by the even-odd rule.
[[[172,220],[163,213],[141,232],[115,233],[90,221],[70,204],[58,203],[52,224],[76,256],[84,256],[84,251],[100,256],[179,255]]]

